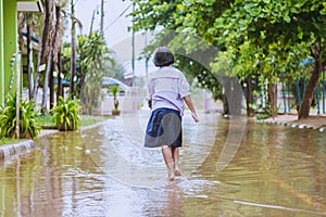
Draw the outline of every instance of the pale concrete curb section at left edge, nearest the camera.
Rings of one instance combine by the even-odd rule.
[[[25,140],[12,144],[4,144],[0,146],[0,159],[15,154],[26,153],[34,150],[35,142],[33,140]]]

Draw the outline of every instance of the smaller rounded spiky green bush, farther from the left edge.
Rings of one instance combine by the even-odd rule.
[[[79,127],[79,100],[60,97],[58,104],[51,110],[52,120],[60,130],[76,130]]]

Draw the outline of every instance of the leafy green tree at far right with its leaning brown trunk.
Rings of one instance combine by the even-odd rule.
[[[325,3],[322,1],[235,1],[216,20],[214,29],[217,29],[216,36],[220,35],[217,41],[227,41],[227,48],[237,48],[248,40],[262,48],[265,63],[261,64],[263,68],[260,73],[267,78],[268,84],[277,80],[279,69],[293,69],[283,66],[288,62],[285,55],[294,53],[298,44],[305,44],[305,52],[297,54],[301,60],[309,54],[315,59],[315,67],[299,111],[299,118],[305,118],[322,72],[325,21]]]

